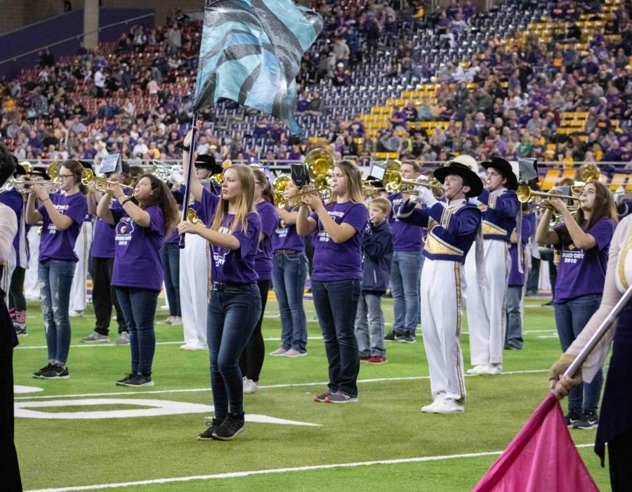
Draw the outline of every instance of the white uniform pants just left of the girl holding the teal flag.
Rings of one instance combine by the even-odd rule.
[[[211,265],[209,242],[187,234],[180,251],[180,309],[186,344],[206,345],[206,313],[209,311]]]

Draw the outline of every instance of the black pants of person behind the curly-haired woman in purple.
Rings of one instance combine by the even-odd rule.
[[[92,304],[96,323],[94,330],[100,335],[110,332],[110,319],[112,318],[112,304],[117,311],[117,323],[119,333],[127,331],[125,316],[121,311],[119,298],[112,287],[112,268],[114,258],[92,258]]]

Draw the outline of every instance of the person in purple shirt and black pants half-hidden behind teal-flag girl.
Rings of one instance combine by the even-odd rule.
[[[261,294],[261,314],[252,335],[250,335],[249,342],[239,358],[239,369],[244,377],[244,393],[255,393],[259,387],[259,374],[265,356],[261,323],[263,323],[263,313],[265,313],[265,304],[268,302],[268,291],[272,278],[272,235],[279,221],[274,205],[272,186],[268,177],[261,169],[254,169],[254,176],[255,209],[261,217],[261,235],[255,257],[255,270],[259,276],[257,287],[259,294]]]

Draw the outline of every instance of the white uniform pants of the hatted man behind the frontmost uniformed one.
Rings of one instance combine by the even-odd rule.
[[[473,246],[466,258],[466,305],[472,365],[500,364],[505,347],[506,295],[511,257],[505,241],[484,240],[485,274],[489,287],[476,280]]]

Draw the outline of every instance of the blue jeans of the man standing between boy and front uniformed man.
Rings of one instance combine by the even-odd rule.
[[[395,251],[390,266],[390,292],[393,294],[393,331],[397,335],[414,334],[419,323],[419,281],[423,255],[421,251]]]

